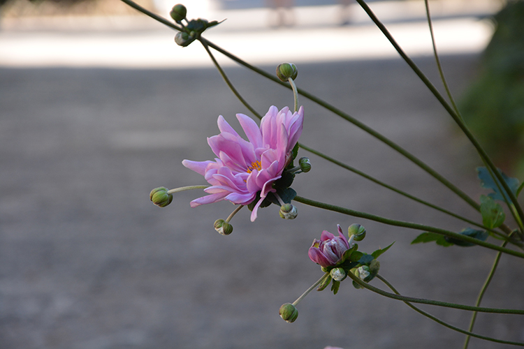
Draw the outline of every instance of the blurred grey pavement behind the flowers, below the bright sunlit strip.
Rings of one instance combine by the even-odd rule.
[[[111,32],[99,33],[101,42]],[[59,29],[47,33],[76,40],[84,35]],[[276,33],[266,31],[267,36]],[[39,35],[34,29],[5,29],[0,41],[29,34]],[[139,49],[142,34],[135,33]],[[132,40],[123,30],[115,35]],[[170,40],[164,45],[170,46]],[[187,50],[173,45],[173,52]],[[476,73],[477,59],[475,53],[443,57],[456,94]],[[386,57],[315,61],[300,64],[299,87],[399,142],[478,198],[476,163],[465,160],[471,149],[405,63]],[[180,162],[212,157],[205,138],[217,133],[218,114],[238,128],[234,114],[247,113],[215,70],[161,68],[154,62],[132,69],[37,63],[3,61],[0,68],[2,349],[462,345],[463,336],[405,304],[355,290],[349,281],[336,296],[324,291],[306,297],[293,324],[283,322],[278,309],[321,276],[307,249],[321,230],[335,232],[337,223],[365,225],[364,251],[396,241],[381,256],[381,274],[414,297],[472,304],[495,258],[492,251],[412,246],[418,232],[304,205],[297,205],[294,221],[279,218],[275,206],[259,211],[256,223],[240,211],[233,234],[218,235],[212,223],[226,218],[231,204],[191,209],[189,201],[201,195],[196,191],[176,195],[166,209],[147,198],[157,186],[203,184]],[[437,81],[430,57],[419,54],[416,63]],[[274,70],[272,61],[266,64],[265,70]],[[292,103],[289,91],[247,70],[231,66],[226,73],[259,112],[271,104]],[[466,204],[380,142],[305,98],[300,103],[307,115],[305,144],[474,216]],[[310,157],[313,170],[293,184],[300,195],[386,217],[464,228],[460,221]],[[522,267],[521,260],[504,256],[483,305],[523,309]],[[462,328],[469,322],[468,313],[424,309]],[[476,331],[524,341],[524,320],[481,314]],[[507,346],[473,339],[470,348]]]

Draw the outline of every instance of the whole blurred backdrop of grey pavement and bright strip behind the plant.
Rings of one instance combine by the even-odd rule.
[[[138,2],[164,17],[175,4]],[[499,124],[516,131],[501,147],[490,143],[510,174],[519,173],[518,161],[506,159],[521,154],[524,59],[518,57],[524,51],[518,35],[511,35],[522,34],[522,17],[507,14],[521,13],[521,4],[430,1],[444,71],[468,122],[491,122],[475,128],[477,135],[487,134],[486,143]],[[295,0],[279,9],[262,0],[185,5],[189,18],[226,19],[205,33],[217,45],[268,72],[283,61],[296,63],[298,87],[398,142],[473,198],[485,193],[472,147],[354,1]],[[370,6],[441,89],[423,1]],[[520,7],[494,22],[506,6]],[[412,297],[474,304],[495,252],[410,245],[419,232],[300,204],[294,221],[279,218],[274,205],[259,211],[255,223],[240,211],[228,237],[212,228],[233,210],[228,202],[191,209],[189,202],[201,192],[190,191],[175,195],[169,207],[154,207],[147,196],[152,188],[204,184],[181,161],[212,158],[206,138],[218,133],[219,114],[239,131],[235,113],[249,114],[203,48],[178,47],[174,31],[116,0],[8,0],[0,13],[0,348],[462,346],[463,335],[349,281],[336,296],[328,290],[308,295],[293,324],[279,318],[278,309],[319,279],[307,249],[322,230],[335,232],[337,223],[344,230],[351,223],[367,228],[363,251],[395,241],[380,258],[381,275]],[[494,36],[494,44],[495,29],[506,28],[502,23],[513,29],[504,29],[498,41]],[[489,47],[497,57],[490,57]],[[293,103],[289,90],[219,54],[217,59],[260,113]],[[486,75],[507,78],[497,80],[495,89]],[[486,96],[495,94],[490,114],[476,117],[475,107],[486,111]],[[508,95],[511,118],[496,108],[508,105]],[[300,103],[305,144],[478,219],[381,142],[305,98]],[[388,218],[466,228],[305,151],[299,156],[310,156],[313,165],[293,184],[299,195]],[[504,255],[483,305],[523,309],[522,267],[521,260]],[[464,329],[470,321],[470,313],[422,308]],[[521,316],[480,314],[475,329],[524,341]],[[507,347],[476,339],[470,344]]]

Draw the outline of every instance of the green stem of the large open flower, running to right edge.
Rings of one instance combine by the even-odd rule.
[[[444,230],[444,229],[441,229],[441,228],[435,228],[435,227],[432,227],[430,225],[423,225],[423,224],[419,224],[419,223],[411,223],[411,222],[405,222],[405,221],[397,221],[397,220],[391,219],[391,218],[384,218],[384,217],[381,217],[381,216],[375,216],[374,214],[367,214],[365,212],[355,211],[353,209],[347,209],[345,207],[340,207],[340,206],[336,206],[336,205],[330,205],[330,204],[326,204],[324,202],[319,202],[319,201],[303,198],[303,197],[298,196],[298,195],[293,200],[295,200],[296,202],[302,202],[303,204],[310,205],[312,207],[318,207],[319,209],[326,209],[328,211],[334,211],[334,212],[338,212],[340,214],[347,214],[348,216],[365,218],[365,219],[369,219],[371,221],[376,221],[376,222],[380,222],[380,223],[384,223],[384,224],[388,224],[388,225],[394,225],[394,226],[397,226],[397,227],[404,227],[404,228],[415,229],[415,230],[423,230],[423,231],[428,231],[428,232],[435,232],[437,234],[444,235],[446,237],[452,237],[453,239],[459,239],[459,240],[463,240],[465,242],[471,242],[473,244],[476,244],[476,245],[479,245],[479,246],[483,246],[483,247],[486,247],[486,248],[490,248],[490,249],[495,250],[495,251],[501,251],[501,252],[507,253],[509,255],[515,255],[516,257],[524,258],[524,253],[522,253],[522,252],[514,251],[514,250],[510,250],[509,248],[505,248],[505,247],[502,247],[502,246],[497,246],[497,245],[494,245],[494,244],[490,244],[489,242],[483,242],[483,241],[481,241],[479,239],[475,239],[474,237],[468,237],[467,235],[458,234],[456,232],[451,232],[449,230]]]

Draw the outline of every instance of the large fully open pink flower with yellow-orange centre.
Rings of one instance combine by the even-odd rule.
[[[248,205],[260,192],[260,200],[251,214],[251,221],[254,221],[265,196],[275,191],[273,182],[282,177],[282,171],[291,161],[291,151],[302,133],[304,108],[292,113],[288,107],[278,111],[272,106],[262,118],[260,128],[245,114],[237,114],[237,119],[249,142],[219,116],[220,134],[208,138],[218,158],[214,161],[184,160],[182,164],[202,174],[211,184],[204,189],[210,195],[191,201],[191,207],[221,200]]]

